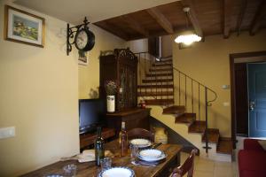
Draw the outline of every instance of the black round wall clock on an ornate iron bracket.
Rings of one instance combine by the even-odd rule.
[[[67,23],[66,55],[69,55],[73,44],[76,49],[82,51],[89,51],[94,47],[95,35],[90,31],[89,24],[86,17],[81,25],[70,27]]]

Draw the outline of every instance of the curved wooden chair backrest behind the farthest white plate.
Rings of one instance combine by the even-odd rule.
[[[134,138],[145,138],[153,142],[154,134],[146,129],[137,127],[137,128],[133,128],[129,130],[128,138],[129,140],[134,139]]]

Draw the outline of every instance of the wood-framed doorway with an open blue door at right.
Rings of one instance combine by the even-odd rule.
[[[246,137],[266,136],[266,134],[263,135],[263,133],[266,133],[266,104],[265,109],[263,107],[263,103],[266,102],[266,87],[264,87],[266,81],[263,82],[266,79],[265,62],[266,51],[230,55],[231,138],[234,142],[234,148],[236,146],[236,135]],[[265,67],[265,73],[263,73],[263,67]],[[261,73],[259,78],[255,78],[257,72]],[[254,93],[257,93],[257,85],[258,89],[262,91],[262,94],[258,95],[259,98],[254,96]],[[265,98],[263,97],[264,91]],[[259,103],[257,103],[258,101]]]

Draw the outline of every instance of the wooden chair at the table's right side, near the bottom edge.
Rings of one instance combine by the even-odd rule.
[[[194,171],[194,158],[197,152],[198,150],[196,149],[192,150],[190,157],[184,161],[183,165],[176,167],[169,177],[182,177],[185,173],[187,173],[187,177],[192,177]]]

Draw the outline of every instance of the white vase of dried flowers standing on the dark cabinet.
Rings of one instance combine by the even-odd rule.
[[[114,81],[106,81],[107,112],[115,112],[115,94],[117,86]]]

